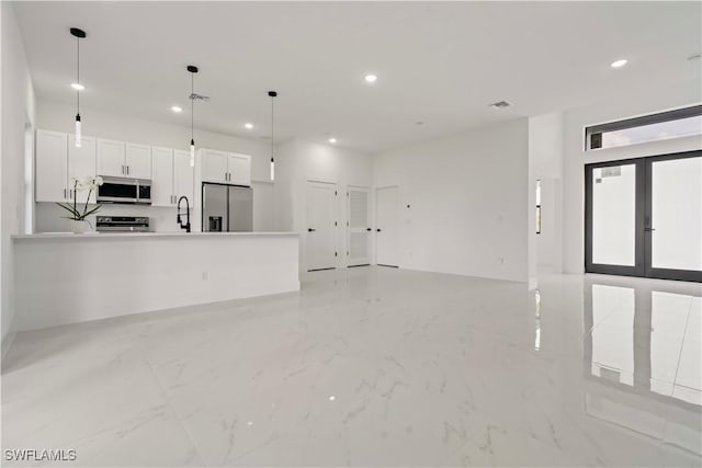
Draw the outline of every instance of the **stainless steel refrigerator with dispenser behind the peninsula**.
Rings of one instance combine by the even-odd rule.
[[[202,184],[202,230],[250,232],[253,227],[253,192],[237,185]]]

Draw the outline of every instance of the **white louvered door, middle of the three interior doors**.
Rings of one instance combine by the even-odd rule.
[[[349,187],[347,242],[349,266],[371,263],[370,193],[364,187]]]

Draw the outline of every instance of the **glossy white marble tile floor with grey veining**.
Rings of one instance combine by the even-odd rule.
[[[3,466],[701,466],[702,286],[385,267],[18,334]]]

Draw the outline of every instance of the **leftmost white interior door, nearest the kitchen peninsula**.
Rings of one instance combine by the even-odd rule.
[[[307,183],[307,270],[327,270],[337,265],[336,184]]]

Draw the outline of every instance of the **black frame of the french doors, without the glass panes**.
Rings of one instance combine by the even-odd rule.
[[[652,164],[658,161],[702,157],[702,150],[682,151],[643,158],[620,159],[615,161],[585,164],[585,272],[622,276],[639,276],[658,279],[678,279],[702,282],[702,272],[692,270],[655,269],[650,264],[652,242]],[[634,164],[635,179],[635,250],[634,266],[592,263],[592,170],[612,165]]]

